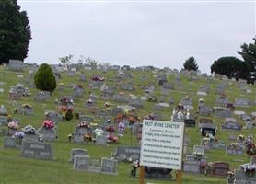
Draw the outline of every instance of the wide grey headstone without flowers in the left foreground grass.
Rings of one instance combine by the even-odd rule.
[[[21,156],[37,159],[52,160],[52,145],[34,141],[23,141],[21,145]]]

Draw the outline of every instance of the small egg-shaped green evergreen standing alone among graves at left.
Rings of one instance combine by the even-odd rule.
[[[37,73],[34,75],[34,82],[37,89],[44,91],[52,91],[56,88],[55,76],[52,73],[52,68],[47,63],[42,63]]]

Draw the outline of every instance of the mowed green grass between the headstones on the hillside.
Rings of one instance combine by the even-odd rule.
[[[0,104],[4,104],[9,112],[13,109],[11,103],[12,100],[8,97],[8,91],[10,86],[17,85],[17,83],[24,81],[29,74],[29,70],[25,70],[21,73],[8,71],[3,66],[0,66],[0,81],[6,82],[6,85],[0,86],[0,88],[4,88],[5,92],[0,93]],[[87,100],[89,92],[99,96],[99,100],[97,100],[97,106],[99,108],[104,108],[103,101],[100,98],[99,89],[91,89],[88,88],[89,78],[92,74],[100,74],[106,78],[105,83],[109,86],[117,87],[116,92],[122,91],[116,85],[116,76],[117,72],[108,71],[107,73],[102,74],[100,71],[84,71],[84,74],[87,76],[86,82],[79,81],[79,75],[71,77],[67,74],[62,74],[61,79],[57,81],[57,83],[64,83],[66,86],[64,92],[60,92],[58,88],[53,92],[52,97],[47,99],[45,103],[38,103],[33,100],[34,95],[38,92],[37,89],[30,89],[32,96],[24,97],[20,100],[17,100],[17,104],[29,103],[32,105],[34,109],[34,115],[32,116],[22,116],[22,115],[13,115],[14,117],[20,119],[21,127],[24,127],[28,124],[33,125],[36,128],[41,127],[41,124],[44,120],[44,110],[56,110],[54,105],[54,100],[63,95],[71,95],[72,88],[70,84],[81,84],[84,86],[86,92],[85,97],[80,98],[79,101],[76,102],[75,111],[81,110],[84,114],[88,116],[94,117],[94,114],[88,112],[85,108],[84,103]],[[24,78],[18,78],[17,75],[23,75]],[[141,86],[147,86],[148,84],[156,84],[157,88],[155,90],[155,95],[160,96],[160,88],[157,85],[157,78],[151,72],[132,72],[134,85],[136,86],[136,90],[134,92],[124,91],[126,94],[133,93],[136,96],[144,96],[144,90],[141,89]],[[145,75],[146,80],[142,80],[141,77]],[[111,80],[111,81],[110,81]],[[129,79],[124,78],[124,81],[128,81]],[[168,75],[168,81],[170,83],[175,83],[175,75]],[[180,102],[180,99],[189,95],[192,98],[192,104],[194,106],[194,110],[192,110],[192,114],[194,114],[195,109],[198,105],[198,97],[196,92],[200,85],[209,84],[211,86],[211,92],[208,96],[204,97],[207,105],[214,106],[215,98],[217,95],[215,94],[215,86],[219,84],[221,81],[215,79],[214,82],[208,82],[204,78],[200,78],[196,82],[190,82],[187,79],[187,76],[181,76],[181,82],[185,86],[183,90],[170,90],[169,97],[173,97],[175,100],[175,104]],[[24,82],[22,82],[24,83]],[[235,98],[250,98],[251,101],[256,99],[256,88],[255,86],[250,86],[252,93],[246,94],[242,93],[239,89],[236,88],[235,83],[230,84],[227,87],[227,96],[231,101],[234,101]],[[168,102],[169,97],[166,97],[166,101]],[[115,103],[114,101],[110,101],[112,107],[121,103]],[[140,117],[144,117],[149,114],[153,110],[153,103],[145,102],[143,109],[137,109],[136,112]],[[174,105],[172,105],[169,109],[161,110],[161,115],[164,120],[169,120],[171,116],[172,109]],[[250,109],[246,108],[237,108],[236,110],[244,110],[248,113],[250,111],[256,111],[255,106],[251,106]],[[239,117],[234,116],[237,120],[244,124],[243,121],[239,119]],[[113,117],[112,117],[113,118]],[[199,117],[200,118],[200,117]],[[100,119],[95,118],[95,121],[98,123],[102,123]],[[224,141],[226,144],[229,144],[228,134],[236,134],[243,133],[248,135],[249,133],[255,134],[255,130],[242,130],[242,132],[222,132],[220,127],[223,119],[217,119],[214,117],[215,124],[218,127],[218,132],[216,136]],[[44,161],[37,159],[29,159],[20,157],[20,151],[18,149],[7,149],[3,148],[3,136],[0,137],[0,183],[8,184],[8,183],[40,183],[40,184],[48,184],[48,183],[88,183],[88,184],[103,184],[103,183],[138,183],[138,178],[132,178],[130,176],[131,164],[129,163],[118,163],[118,175],[102,175],[102,174],[93,174],[83,171],[76,171],[73,169],[73,165],[68,162],[70,158],[70,152],[72,148],[85,148],[88,150],[89,155],[94,159],[101,159],[101,157],[110,157],[111,153],[114,152],[117,145],[130,145],[130,130],[125,131],[125,135],[120,138],[118,144],[109,144],[109,146],[98,146],[93,144],[72,144],[67,140],[67,134],[74,132],[76,127],[77,120],[73,119],[72,121],[62,121],[58,126],[58,140],[52,143],[54,160],[53,161]],[[6,129],[6,127],[1,127],[1,129]],[[185,133],[188,135],[190,142],[188,151],[192,151],[192,146],[194,144],[200,144],[201,135],[198,132],[197,128],[187,128]],[[135,134],[132,137],[132,145],[136,146],[138,143],[135,138]],[[210,150],[206,154],[208,161],[224,161],[230,164],[231,168],[239,167],[242,162],[236,160],[243,160],[243,162],[248,162],[249,158],[247,155],[226,155],[224,150]],[[172,172],[175,175],[175,172]],[[171,180],[149,180],[146,179],[145,183],[175,183],[175,181]],[[204,183],[226,183],[226,178],[214,178],[214,177],[206,177],[204,175],[196,175],[183,173],[182,183],[194,183],[194,184],[204,184]]]

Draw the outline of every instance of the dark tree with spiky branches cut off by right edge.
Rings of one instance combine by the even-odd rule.
[[[252,43],[243,43],[241,45],[241,51],[238,52],[248,66],[248,82],[251,83],[253,83],[256,78],[256,37],[252,40],[254,41]]]

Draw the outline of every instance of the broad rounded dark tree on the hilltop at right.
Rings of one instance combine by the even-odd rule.
[[[211,65],[211,73],[226,75],[228,78],[247,79],[248,66],[236,57],[221,57]]]

